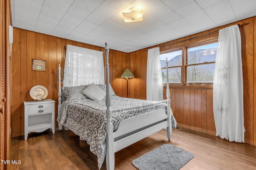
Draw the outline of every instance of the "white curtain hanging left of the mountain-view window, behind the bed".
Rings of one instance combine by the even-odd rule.
[[[163,100],[163,82],[159,47],[148,49],[147,100]]]

